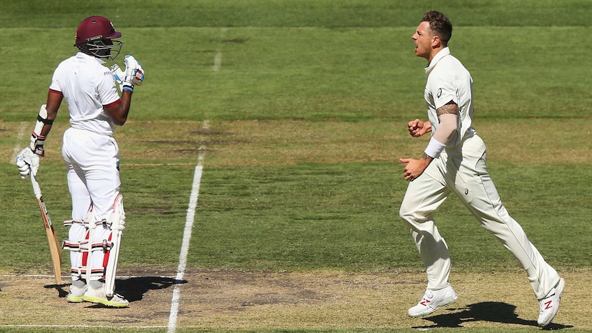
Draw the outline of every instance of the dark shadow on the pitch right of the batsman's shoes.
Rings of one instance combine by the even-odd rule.
[[[169,288],[175,284],[186,283],[187,280],[179,280],[172,277],[128,277],[126,279],[115,279],[115,291],[131,303],[141,300],[144,294],[150,290],[160,290]]]

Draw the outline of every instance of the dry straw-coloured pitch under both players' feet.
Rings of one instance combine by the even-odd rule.
[[[51,277],[3,276],[0,330],[12,325],[98,325],[166,328],[172,271],[122,271],[117,290],[124,309],[67,303],[67,284]],[[592,330],[591,271],[561,272],[561,309],[551,328]],[[69,282],[69,279],[65,280]],[[425,288],[422,273],[260,273],[187,271],[176,328],[373,329],[533,328],[538,303],[524,273],[455,273],[458,301],[421,319],[407,317]],[[78,318],[86,318],[80,322]]]

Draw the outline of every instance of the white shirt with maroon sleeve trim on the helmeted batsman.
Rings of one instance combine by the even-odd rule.
[[[120,102],[113,73],[99,58],[78,52],[60,62],[49,89],[62,93],[73,128],[113,135],[115,124],[103,107]]]

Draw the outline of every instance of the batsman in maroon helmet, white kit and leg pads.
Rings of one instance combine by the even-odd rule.
[[[72,200],[72,220],[64,222],[69,226],[69,237],[62,245],[71,251],[72,283],[67,301],[115,308],[125,308],[129,302],[115,293],[126,219],[113,131],[126,123],[134,89],[144,81],[144,69],[133,56],[125,57],[124,70],[117,65],[106,67],[105,60],[115,60],[121,51],[123,43],[116,40],[121,36],[103,16],[90,16],[78,25],[74,44],[78,53],[60,62],[54,71],[30,147],[16,157],[21,178],[37,174],[40,157],[45,156],[45,138],[62,100],[66,100],[71,127],[64,133],[62,157]]]

